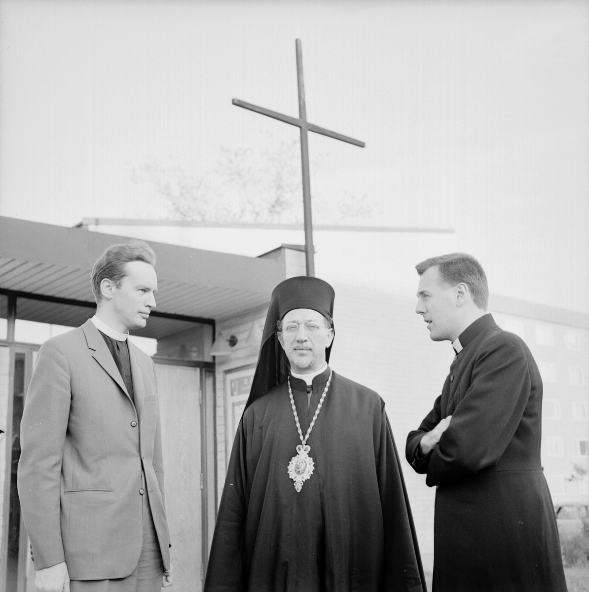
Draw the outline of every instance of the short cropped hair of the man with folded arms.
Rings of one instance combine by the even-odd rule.
[[[482,310],[487,310],[489,301],[487,276],[477,259],[467,253],[450,253],[426,259],[418,263],[415,268],[421,275],[426,269],[435,265],[439,266],[440,276],[446,284],[455,286],[463,282],[471,291],[474,303]]]

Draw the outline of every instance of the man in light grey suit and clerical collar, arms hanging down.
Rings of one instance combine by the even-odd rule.
[[[109,247],[96,315],[41,347],[22,415],[18,494],[39,592],[172,584],[153,361],[127,340],[155,308],[155,253]]]

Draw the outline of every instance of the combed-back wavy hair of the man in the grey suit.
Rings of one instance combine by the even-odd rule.
[[[135,239],[127,244],[112,244],[102,253],[92,268],[92,292],[96,304],[102,300],[100,282],[110,279],[118,288],[126,275],[125,265],[131,261],[143,261],[153,266],[156,264],[156,254],[149,244]]]

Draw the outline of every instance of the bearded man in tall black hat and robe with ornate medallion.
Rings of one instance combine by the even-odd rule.
[[[426,590],[384,402],[327,365],[333,300],[306,276],[272,292],[206,592]]]

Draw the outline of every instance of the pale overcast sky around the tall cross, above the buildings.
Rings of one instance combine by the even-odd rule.
[[[313,195],[456,230],[495,291],[589,313],[589,2],[0,0],[0,215],[165,217],[138,171],[272,152],[298,114]],[[335,214],[334,214],[335,215]],[[432,253],[437,255],[439,253]]]

